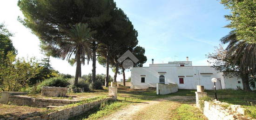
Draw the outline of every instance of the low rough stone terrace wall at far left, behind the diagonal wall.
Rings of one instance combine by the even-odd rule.
[[[71,103],[76,103],[81,100],[59,100],[59,99],[43,99],[36,97],[27,97],[20,95],[10,95],[9,102],[20,106],[30,107],[47,107],[47,106],[64,106]]]

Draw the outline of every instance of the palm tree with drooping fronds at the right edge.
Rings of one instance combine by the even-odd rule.
[[[231,31],[221,38],[223,44],[228,44],[227,58],[233,60],[232,64],[239,66],[242,72],[244,90],[249,91],[249,74],[256,75],[256,44],[236,38],[236,32]]]

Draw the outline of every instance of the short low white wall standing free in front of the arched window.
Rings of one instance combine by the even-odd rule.
[[[166,94],[175,93],[175,92],[178,92],[177,84],[156,83],[156,94],[157,95],[166,95]]]

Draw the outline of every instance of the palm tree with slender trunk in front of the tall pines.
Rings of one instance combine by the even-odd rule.
[[[88,24],[78,23],[71,26],[71,29],[64,30],[64,32],[67,33],[68,39],[62,41],[63,45],[60,48],[60,57],[62,59],[67,58],[68,61],[74,55],[76,62],[74,85],[77,86],[78,77],[81,76],[81,63],[84,65],[86,59],[88,63],[91,59],[92,51],[90,49],[90,42],[93,39],[92,35],[96,31],[91,31],[88,28]]]

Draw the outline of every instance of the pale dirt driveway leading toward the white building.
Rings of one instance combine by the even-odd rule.
[[[146,101],[125,107],[102,120],[165,120],[172,109],[182,101],[195,101],[191,96],[170,96],[154,101]]]

